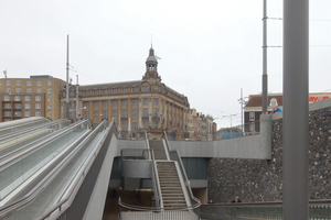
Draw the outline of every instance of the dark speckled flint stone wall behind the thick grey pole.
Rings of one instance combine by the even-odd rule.
[[[331,199],[331,108],[309,112],[309,198]],[[212,158],[209,199],[229,202],[282,200],[282,119],[273,121],[271,160]]]

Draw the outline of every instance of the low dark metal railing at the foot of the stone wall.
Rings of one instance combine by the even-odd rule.
[[[202,205],[201,218],[212,219],[270,219],[282,220],[282,202],[253,202],[253,204],[215,204]],[[331,200],[310,200],[310,220],[331,220]]]

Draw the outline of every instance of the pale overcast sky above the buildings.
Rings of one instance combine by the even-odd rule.
[[[241,123],[244,97],[261,91],[263,0],[0,0],[0,70],[8,77],[79,84],[139,80],[152,44],[162,81],[212,114],[217,128]],[[331,89],[331,1],[310,1],[310,92]],[[268,0],[282,16],[282,0]],[[268,20],[268,45],[282,42],[282,21]],[[282,50],[268,50],[269,92],[282,91]],[[76,81],[75,72],[71,77]],[[3,77],[3,75],[1,76]]]

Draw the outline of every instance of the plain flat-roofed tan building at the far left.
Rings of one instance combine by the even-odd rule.
[[[0,79],[0,121],[28,117],[60,119],[58,94],[65,81],[49,75]]]

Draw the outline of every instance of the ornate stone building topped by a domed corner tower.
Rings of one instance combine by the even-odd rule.
[[[65,118],[65,89],[60,97],[61,118]],[[72,86],[71,119],[76,117],[75,106],[76,88]],[[161,136],[167,131],[170,139],[183,139],[190,103],[188,97],[162,82],[158,74],[158,61],[151,47],[141,80],[79,86],[78,109],[82,117],[90,119],[95,125],[104,119],[114,119],[124,135],[148,131],[153,136]]]

